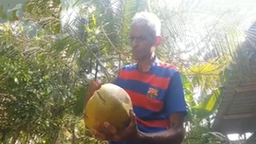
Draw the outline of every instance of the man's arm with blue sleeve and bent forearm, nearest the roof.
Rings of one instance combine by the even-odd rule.
[[[183,141],[185,135],[183,123],[184,116],[186,115],[186,102],[179,72],[173,75],[168,87],[165,110],[169,114],[169,129],[155,133],[139,132],[138,142],[180,144]]]

